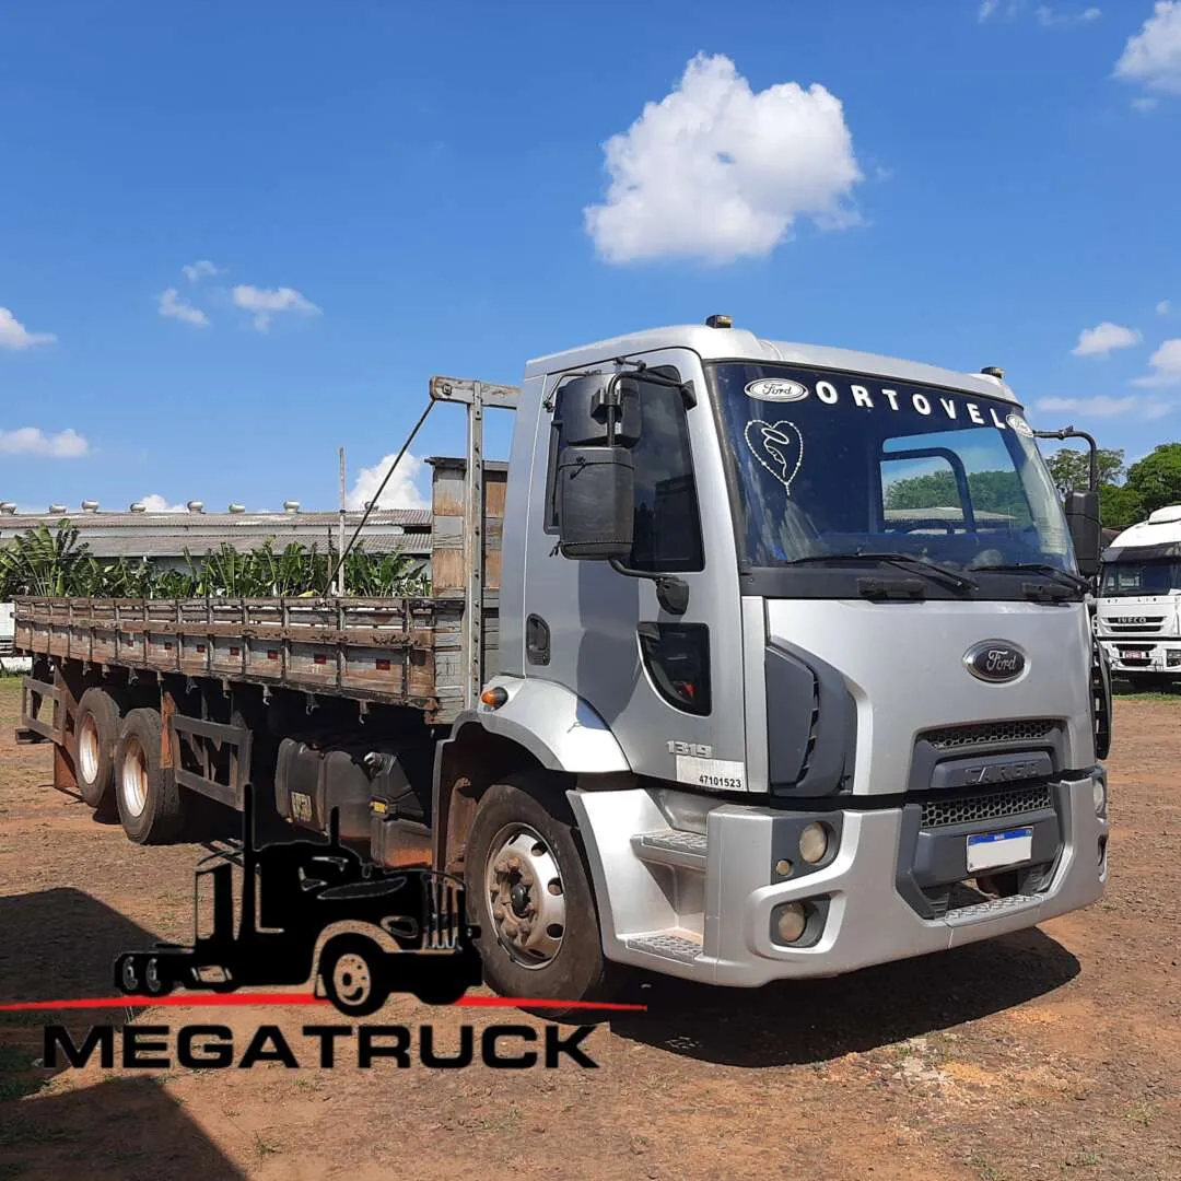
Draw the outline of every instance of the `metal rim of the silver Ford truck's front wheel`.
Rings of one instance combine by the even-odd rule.
[[[522,967],[553,963],[566,938],[566,883],[541,834],[528,824],[502,828],[490,846],[484,881],[501,946]]]

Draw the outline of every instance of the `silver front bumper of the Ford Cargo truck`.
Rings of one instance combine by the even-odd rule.
[[[1095,781],[1103,775],[1097,768],[1090,777],[1051,785],[1058,836],[1044,874],[1031,875],[1011,896],[942,913],[938,906],[932,913],[916,903],[913,890],[905,896],[906,870],[914,868],[916,855],[907,852],[914,842],[907,844],[903,808],[826,814],[840,831],[835,855],[785,879],[775,869],[783,856],[784,826],[798,831],[816,814],[737,804],[713,808],[705,822],[698,890],[685,868],[653,867],[635,856],[634,834],[667,827],[648,792],[573,791],[569,798],[586,841],[608,959],[710,984],[753,987],[958,947],[1094,902],[1108,873],[1108,821],[1105,810],[1096,815],[1094,802]],[[988,833],[1024,823],[1003,817],[972,828]],[[961,840],[958,828],[954,835]],[[777,907],[817,901],[823,921],[814,938],[802,941],[807,946],[772,938]]]

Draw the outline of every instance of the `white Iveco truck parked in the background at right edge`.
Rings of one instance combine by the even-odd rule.
[[[1133,689],[1181,677],[1181,504],[1124,529],[1103,552],[1096,629]]]

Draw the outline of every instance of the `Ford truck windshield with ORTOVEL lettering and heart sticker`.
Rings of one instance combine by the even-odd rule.
[[[964,569],[1075,570],[1019,406],[787,365],[710,368],[744,566],[888,552]]]

